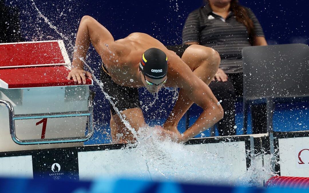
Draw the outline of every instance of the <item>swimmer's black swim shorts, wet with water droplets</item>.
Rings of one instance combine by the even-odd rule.
[[[167,49],[176,52],[176,54],[181,58],[184,51],[189,47],[189,44],[166,46]],[[120,86],[116,84],[112,78],[109,76],[107,69],[104,64],[100,70],[101,81],[104,84],[104,92],[111,96],[111,100],[114,102],[115,106],[119,111],[132,108],[140,108],[139,98],[138,98],[138,88],[131,88],[128,86]],[[115,98],[115,99],[113,99]],[[112,115],[116,114],[114,108],[110,107]]]

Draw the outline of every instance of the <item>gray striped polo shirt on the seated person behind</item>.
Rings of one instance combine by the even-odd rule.
[[[264,36],[254,13],[249,8],[245,9],[253,21],[255,35]],[[212,12],[209,4],[192,11],[182,31],[183,44],[200,42],[201,45],[219,52],[220,68],[225,73],[243,72],[241,50],[246,46],[251,46],[248,38],[247,28],[236,20],[233,12],[223,19]]]

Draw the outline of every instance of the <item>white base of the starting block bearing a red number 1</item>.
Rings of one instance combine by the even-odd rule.
[[[0,99],[9,101],[15,114],[56,113],[88,110],[89,86],[44,87],[0,90]],[[0,106],[0,152],[27,149],[46,149],[81,146],[83,143],[45,145],[18,145],[10,135],[8,109]],[[42,119],[15,120],[19,139],[41,139]],[[46,119],[45,139],[84,136],[87,117],[61,117]]]

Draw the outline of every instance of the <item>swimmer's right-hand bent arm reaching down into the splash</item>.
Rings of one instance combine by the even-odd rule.
[[[207,128],[210,128],[220,119],[222,119],[223,109],[220,104],[218,105],[218,100],[215,98],[207,84],[195,76],[188,65],[186,65],[180,58],[178,58],[174,57],[173,60],[170,59],[170,62],[174,61],[174,64],[171,65],[178,66],[178,68],[175,70],[179,75],[174,78],[174,82],[176,82],[178,87],[184,90],[184,93],[189,96],[194,103],[203,108],[203,112],[197,121],[188,130],[186,130],[183,133],[181,139],[179,139],[179,142],[185,142],[197,134],[205,131]],[[179,104],[183,106],[182,103]],[[182,107],[177,107],[177,109],[184,110]],[[177,115],[174,118],[169,117],[168,120],[172,120],[168,124],[174,124],[177,126]]]

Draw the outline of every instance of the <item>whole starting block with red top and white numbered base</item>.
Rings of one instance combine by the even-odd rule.
[[[80,146],[92,136],[93,82],[67,80],[69,65],[62,40],[0,44],[0,152]]]

